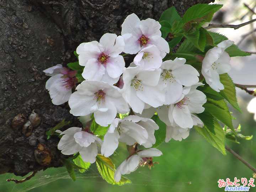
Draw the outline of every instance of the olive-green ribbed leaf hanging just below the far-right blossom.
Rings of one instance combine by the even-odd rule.
[[[227,73],[219,75],[220,82],[224,85],[224,90],[220,90],[220,95],[222,95],[236,110],[242,113],[237,99],[235,85]]]

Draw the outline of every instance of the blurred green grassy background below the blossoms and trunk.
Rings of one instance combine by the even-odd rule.
[[[238,119],[233,120],[234,126],[241,124],[242,134],[252,135],[256,130],[256,122],[253,120],[253,114],[246,111],[247,102],[240,99],[243,113],[234,112],[233,115]],[[256,136],[252,140],[239,139],[241,144],[227,141],[231,149],[238,153],[242,158],[256,167]],[[113,156],[112,160],[116,167],[127,157],[122,150],[125,146],[119,147],[119,154]],[[13,174],[0,175],[1,192],[63,192],[63,191],[178,191],[178,192],[211,192],[224,191],[224,188],[218,188],[219,179],[234,177],[241,179],[246,177],[248,180],[252,177],[252,171],[242,162],[236,159],[227,151],[227,155],[222,155],[217,149],[210,145],[194,129],[191,129],[187,139],[181,142],[170,140],[169,143],[163,143],[159,146],[163,155],[155,157],[153,160],[160,164],[155,164],[151,170],[148,167],[139,167],[137,171],[132,172],[128,177],[132,184],[115,186],[108,184],[103,180],[93,164],[88,171],[81,174],[76,171],[77,180],[73,182],[64,167],[50,168],[40,171],[24,183],[15,184],[7,182],[8,178],[21,177]],[[25,178],[25,177],[23,177]],[[256,191],[251,188],[250,191]]]

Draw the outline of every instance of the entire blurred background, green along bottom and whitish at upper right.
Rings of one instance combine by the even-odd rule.
[[[256,12],[255,0],[222,0],[215,3],[223,4],[223,8],[215,14],[212,23],[239,24],[256,18],[256,14],[248,9],[250,7]],[[244,5],[248,5],[246,7]],[[245,16],[244,16],[245,15]],[[232,21],[232,22],[230,22]],[[239,30],[234,29],[211,29],[225,34],[230,40],[235,41],[240,49],[256,52],[256,24],[252,23]],[[255,30],[249,35],[249,32]],[[256,85],[256,54],[248,57],[231,58],[232,70],[230,76],[235,83]],[[231,149],[238,153],[242,158],[256,167],[256,122],[253,120],[253,114],[246,110],[247,103],[253,98],[245,91],[237,89],[239,106],[242,114],[233,110],[234,127],[241,124],[241,133],[243,135],[254,135],[252,140],[238,139],[241,144],[226,141]],[[230,107],[232,108],[232,107]],[[232,111],[232,110],[231,110]],[[178,192],[211,192],[224,191],[224,188],[218,188],[219,179],[234,177],[241,179],[246,177],[248,180],[253,177],[253,172],[242,162],[236,159],[227,151],[227,155],[222,155],[217,149],[204,140],[194,129],[191,129],[187,139],[181,142],[170,140],[169,143],[163,143],[159,148],[163,155],[155,157],[158,161],[151,170],[148,167],[139,167],[137,171],[132,172],[128,177],[132,184],[124,186],[114,186],[104,181],[93,164],[88,171],[81,174],[76,171],[77,180],[73,182],[66,172],[65,167],[50,168],[40,171],[24,183],[15,184],[7,182],[8,178],[22,179],[13,174],[0,175],[1,192],[63,192],[63,191],[178,191]],[[112,160],[116,167],[128,156],[126,146],[121,145],[118,148],[118,155],[113,156]],[[23,177],[25,178],[25,177]],[[256,189],[251,188],[250,191]]]

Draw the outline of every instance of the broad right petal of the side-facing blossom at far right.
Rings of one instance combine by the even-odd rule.
[[[227,52],[223,52],[219,59],[215,62],[215,69],[218,74],[227,73],[231,70],[230,57]]]

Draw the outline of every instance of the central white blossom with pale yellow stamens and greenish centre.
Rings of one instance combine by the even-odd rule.
[[[165,95],[157,87],[160,73],[161,69],[147,71],[139,66],[124,69],[122,95],[134,112],[142,113],[145,103],[153,107],[164,103]]]

